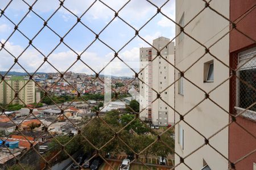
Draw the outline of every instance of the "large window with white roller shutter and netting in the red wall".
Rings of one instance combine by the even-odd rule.
[[[246,50],[238,54],[238,67],[237,71],[237,109],[240,111],[250,107],[256,100],[255,91],[256,88],[256,47]],[[244,83],[246,82],[246,83]],[[248,86],[249,85],[249,86]],[[252,86],[252,87],[250,87]],[[254,88],[254,89],[253,89]],[[256,105],[250,108],[250,111],[256,111]],[[249,112],[250,112],[249,111]],[[249,113],[247,112],[247,113]],[[247,114],[243,116],[247,116]],[[249,116],[249,115],[248,115]]]

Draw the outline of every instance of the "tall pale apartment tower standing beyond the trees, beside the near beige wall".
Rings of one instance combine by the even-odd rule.
[[[157,50],[150,48],[140,48],[140,70],[139,78],[139,103],[140,118],[142,120],[151,121],[154,125],[167,126],[174,124],[174,42],[170,43],[170,39],[159,37],[153,40],[156,49],[161,50],[161,55],[157,56]],[[168,62],[170,63],[168,63]],[[156,99],[156,92],[164,101]],[[156,100],[155,100],[156,99]],[[155,101],[154,101],[155,100]]]

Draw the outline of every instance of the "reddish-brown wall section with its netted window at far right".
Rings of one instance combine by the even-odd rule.
[[[254,169],[256,163],[255,6],[255,0],[230,0],[230,20],[236,23],[230,28],[230,66],[237,71],[230,80],[229,109],[240,116],[229,126],[229,160],[237,170]]]

